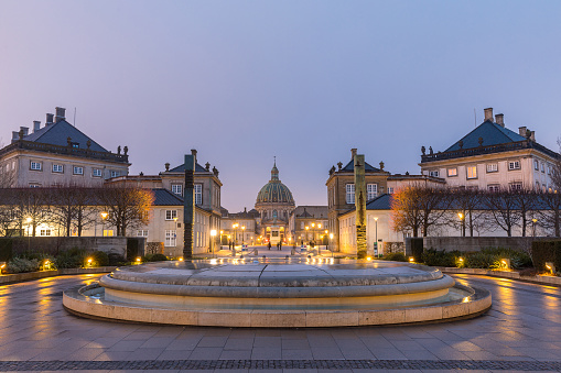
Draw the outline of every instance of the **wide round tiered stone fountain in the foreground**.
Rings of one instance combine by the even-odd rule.
[[[222,327],[342,327],[479,315],[490,294],[424,265],[334,259],[160,262],[64,293],[72,312]]]

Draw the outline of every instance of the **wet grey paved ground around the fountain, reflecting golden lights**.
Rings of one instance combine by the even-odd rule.
[[[0,287],[0,371],[559,371],[561,289],[457,275],[487,287],[485,316],[447,323],[338,329],[225,329],[83,319],[62,292],[99,275]]]

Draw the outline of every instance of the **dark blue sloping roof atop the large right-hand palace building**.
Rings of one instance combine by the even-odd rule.
[[[487,120],[479,124],[475,130],[456,141],[452,146],[446,149],[445,152],[458,151],[461,149],[479,147],[479,138],[483,139],[482,144],[484,146],[508,144],[511,142],[527,140],[525,136],[521,136],[500,124],[493,123],[490,120]],[[462,146],[460,146],[461,141]]]

